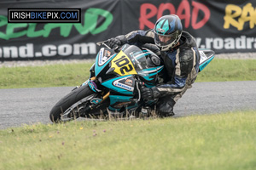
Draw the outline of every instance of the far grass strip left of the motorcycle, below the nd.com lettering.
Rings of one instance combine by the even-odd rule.
[[[90,76],[93,63],[0,68],[0,88],[77,86]]]

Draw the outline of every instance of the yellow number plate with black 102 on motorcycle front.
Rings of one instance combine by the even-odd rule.
[[[134,66],[131,63],[131,59],[120,51],[119,54],[111,61],[111,65],[114,68],[114,72],[121,76],[137,74]]]

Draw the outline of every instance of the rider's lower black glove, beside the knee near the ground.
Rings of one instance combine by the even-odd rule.
[[[153,99],[158,99],[160,97],[160,91],[156,87],[154,88],[142,87],[141,94],[144,100],[153,100]]]

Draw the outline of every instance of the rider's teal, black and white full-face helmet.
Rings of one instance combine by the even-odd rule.
[[[154,43],[161,51],[173,48],[183,32],[181,20],[175,14],[162,16],[154,25]],[[167,42],[161,42],[160,36],[169,37]]]

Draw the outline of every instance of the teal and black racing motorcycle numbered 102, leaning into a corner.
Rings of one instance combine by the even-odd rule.
[[[54,105],[49,113],[52,122],[78,117],[144,117],[153,112],[157,100],[143,100],[140,88],[152,88],[162,82],[164,65],[155,48],[125,44],[112,49],[107,43],[108,40],[97,43],[104,47],[96,55],[89,79]],[[214,52],[203,48],[199,52],[202,71],[214,58]]]

